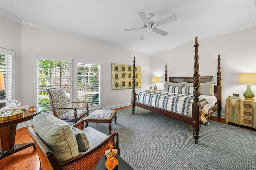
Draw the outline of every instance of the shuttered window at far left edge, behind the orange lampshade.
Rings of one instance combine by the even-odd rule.
[[[0,48],[0,71],[4,75],[5,89],[0,89],[0,108],[14,99],[14,61],[15,52]]]

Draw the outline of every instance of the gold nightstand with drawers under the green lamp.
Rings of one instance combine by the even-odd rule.
[[[228,122],[256,128],[256,101],[227,97],[225,100],[225,123]]]

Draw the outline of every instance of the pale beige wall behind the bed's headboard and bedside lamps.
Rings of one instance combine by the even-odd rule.
[[[224,113],[225,98],[232,93],[239,93],[243,97],[246,90],[246,85],[238,84],[238,73],[256,72],[256,26],[208,40],[200,40],[198,37],[198,44],[200,76],[214,76],[215,83],[220,54]],[[193,76],[193,45],[194,43],[150,56],[150,76],[161,77],[159,89],[164,87],[165,63],[168,77]],[[252,91],[256,95],[256,85],[252,85]]]

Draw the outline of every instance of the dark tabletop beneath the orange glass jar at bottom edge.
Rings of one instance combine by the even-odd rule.
[[[117,155],[118,159],[118,169],[119,170],[134,170],[127,162],[125,162],[119,155]],[[102,156],[100,162],[94,168],[94,170],[105,170],[105,155]],[[115,170],[115,169],[114,169]]]

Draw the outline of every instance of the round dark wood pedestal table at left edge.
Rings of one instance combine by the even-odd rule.
[[[14,144],[17,124],[33,119],[34,116],[43,111],[42,107],[33,107],[36,111],[30,113],[30,108],[32,107],[24,111],[23,115],[20,117],[0,121],[0,160],[29,146],[34,146],[34,142]]]

